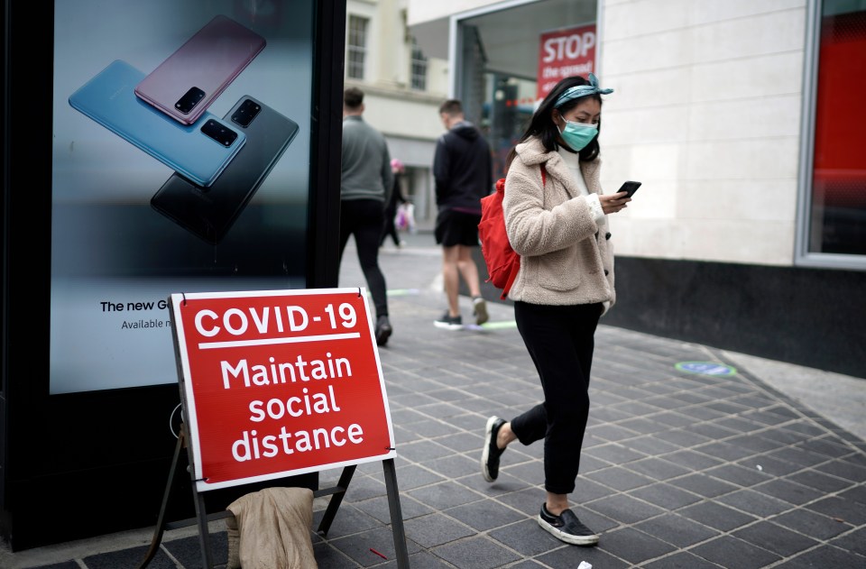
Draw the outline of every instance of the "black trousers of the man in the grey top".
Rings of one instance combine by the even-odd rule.
[[[345,243],[355,235],[358,262],[364,271],[364,280],[373,296],[376,318],[388,316],[388,298],[385,276],[379,269],[379,243],[384,223],[384,204],[376,199],[344,199],[340,201],[340,262],[343,261]]]

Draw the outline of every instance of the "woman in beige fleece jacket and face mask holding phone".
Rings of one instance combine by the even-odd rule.
[[[505,448],[544,440],[546,500],[539,526],[576,546],[598,543],[569,509],[586,421],[598,319],[613,306],[613,248],[606,216],[631,201],[603,195],[598,133],[602,95],[589,78],[565,78],[532,116],[506,159],[505,225],[521,270],[508,298],[539,372],[544,401],[511,421],[487,420],[481,467],[493,482]]]

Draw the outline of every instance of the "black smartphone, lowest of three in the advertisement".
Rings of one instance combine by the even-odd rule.
[[[298,133],[298,124],[270,106],[243,96],[224,117],[246,135],[244,148],[209,188],[174,174],[151,198],[163,216],[217,244]]]

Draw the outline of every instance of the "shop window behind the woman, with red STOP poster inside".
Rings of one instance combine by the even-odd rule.
[[[540,91],[567,75],[585,75],[593,70],[587,64],[594,64],[594,51],[585,48],[595,44],[600,3],[545,0],[487,4],[491,6],[457,20],[451,78],[466,118],[490,142],[496,179],[503,175],[509,151],[528,126]],[[586,32],[592,32],[592,46],[585,41]],[[552,49],[548,43],[551,37]],[[576,57],[585,61],[575,61]],[[547,74],[542,65],[550,68]],[[553,83],[539,84],[539,77]]]

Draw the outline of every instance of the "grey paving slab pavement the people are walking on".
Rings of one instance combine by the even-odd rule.
[[[496,482],[479,468],[486,418],[541,397],[512,309],[488,303],[485,326],[434,327],[439,251],[430,234],[406,241],[382,249],[394,334],[380,357],[411,567],[866,566],[866,381],[604,324],[572,495],[602,539],[548,535],[535,521],[542,445],[511,445]],[[365,286],[351,243],[339,285]],[[469,298],[461,307],[469,319]],[[314,525],[326,506],[315,500]],[[313,537],[318,567],[396,567],[390,521],[382,464],[359,465],[327,538]],[[225,526],[210,529],[224,567]],[[137,567],[152,534],[0,550],[0,567]],[[167,532],[149,566],[200,567],[196,528]]]

